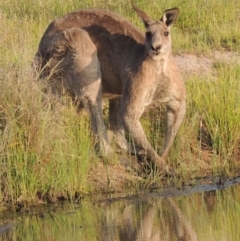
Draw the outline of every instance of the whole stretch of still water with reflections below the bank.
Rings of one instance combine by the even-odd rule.
[[[240,179],[1,214],[0,240],[239,241]]]

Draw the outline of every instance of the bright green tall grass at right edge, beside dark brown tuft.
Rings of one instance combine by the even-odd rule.
[[[229,161],[234,158],[240,140],[240,66],[219,63],[216,68],[218,79],[204,83],[204,87],[200,82],[199,89],[203,89],[204,95],[195,101],[211,136],[213,150]]]

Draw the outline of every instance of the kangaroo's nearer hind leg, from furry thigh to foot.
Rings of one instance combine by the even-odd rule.
[[[65,87],[79,98],[89,111],[91,129],[99,139],[100,154],[108,156],[112,149],[107,138],[102,112],[102,83],[97,49],[88,33],[80,28],[64,31],[69,42],[69,52],[64,61],[69,60],[65,68]]]

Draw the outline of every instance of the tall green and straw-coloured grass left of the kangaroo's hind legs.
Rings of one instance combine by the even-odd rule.
[[[0,82],[0,197],[30,202],[38,192],[51,201],[53,190],[65,198],[87,192],[94,161],[88,118],[79,117],[71,102],[64,108],[45,95],[42,84],[22,71],[11,69]]]

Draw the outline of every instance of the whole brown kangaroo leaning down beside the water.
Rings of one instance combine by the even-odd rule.
[[[164,11],[157,21],[137,6],[133,9],[144,23],[145,36],[116,13],[79,10],[50,23],[35,62],[43,73],[54,69],[55,78],[89,110],[102,155],[113,153],[102,115],[102,98],[107,98],[109,131],[117,147],[131,151],[125,139],[125,132],[130,133],[137,154],[163,169],[186,110],[184,82],[172,54],[170,34],[179,9]],[[160,156],[140,123],[152,101],[166,104],[166,136]]]

